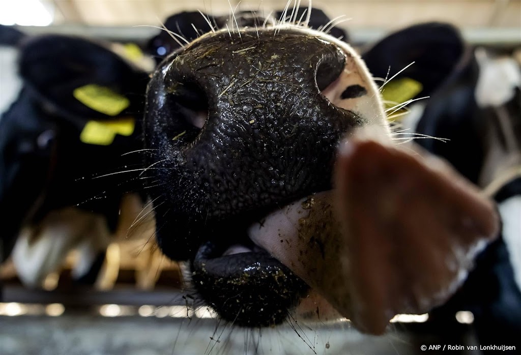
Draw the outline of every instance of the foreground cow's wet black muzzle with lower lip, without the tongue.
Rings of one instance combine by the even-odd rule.
[[[365,66],[322,32],[221,30],[163,62],[146,111],[148,172],[176,182],[151,187],[160,247],[173,259],[192,259],[200,284],[220,280],[210,303],[221,313],[235,316],[235,302],[225,300],[239,289],[247,290],[241,305],[262,289],[236,321],[280,322],[305,284],[255,248],[247,228],[274,208],[330,189],[343,134],[362,125],[387,132]],[[240,248],[250,252],[237,254]],[[202,266],[223,254],[230,255]]]

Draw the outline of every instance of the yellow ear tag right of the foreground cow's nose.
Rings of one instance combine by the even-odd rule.
[[[382,99],[387,109],[396,107],[396,110],[391,110],[388,115],[389,119],[399,120],[403,116],[403,109],[399,108],[400,104],[404,104],[418,95],[423,90],[423,85],[419,81],[411,78],[393,79],[383,87]],[[398,105],[398,106],[396,106]]]

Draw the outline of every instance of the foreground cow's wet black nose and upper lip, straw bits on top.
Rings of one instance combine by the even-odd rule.
[[[340,137],[363,122],[321,94],[348,58],[327,37],[266,28],[208,33],[162,62],[144,124],[147,174],[167,183],[148,192],[181,201],[156,207],[166,255],[193,259],[223,221],[331,188]]]

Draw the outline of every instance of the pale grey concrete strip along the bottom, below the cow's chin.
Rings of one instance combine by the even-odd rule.
[[[300,326],[300,327],[299,327]],[[417,354],[421,345],[447,344],[439,335],[400,331],[386,336],[359,334],[348,323],[231,329],[215,319],[192,320],[91,315],[0,316],[0,354]],[[473,344],[463,336],[458,344]],[[453,344],[453,342],[452,342]],[[437,352],[437,351],[436,351]],[[480,354],[479,351],[451,353]]]

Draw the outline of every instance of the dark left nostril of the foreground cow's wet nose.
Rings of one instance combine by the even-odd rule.
[[[201,130],[208,118],[208,99],[194,83],[176,83],[169,90],[168,100],[179,118],[180,129]]]

